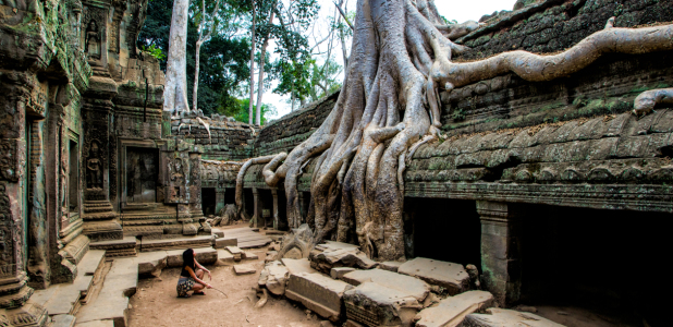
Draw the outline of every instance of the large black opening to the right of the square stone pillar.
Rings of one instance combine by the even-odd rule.
[[[600,317],[596,326],[670,324],[668,301],[661,300],[673,287],[660,272],[670,249],[670,232],[661,223],[671,218],[529,206],[521,238],[521,302],[542,313],[544,305],[590,312]]]

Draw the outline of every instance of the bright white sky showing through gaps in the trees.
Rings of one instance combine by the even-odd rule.
[[[357,0],[347,0],[348,11],[355,11],[356,2]],[[491,14],[494,11],[512,10],[515,2],[516,0],[435,0],[435,5],[437,5],[440,15],[450,21],[455,20],[463,23],[470,20],[479,21],[482,15]],[[327,35],[328,25],[326,22],[329,21],[327,17],[334,15],[334,4],[333,0],[318,0],[318,3],[320,3],[320,17],[316,22],[314,34],[319,39],[320,35]],[[309,40],[309,43],[311,41]],[[338,48],[337,52],[341,53],[341,48]],[[340,64],[343,64],[341,56],[337,56],[335,59]],[[343,80],[343,76],[340,76],[340,80]],[[290,113],[290,96],[273,94],[272,88],[265,92],[262,101],[276,107],[277,114],[271,119],[278,119]]]

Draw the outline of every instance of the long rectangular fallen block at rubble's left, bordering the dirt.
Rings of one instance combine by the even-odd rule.
[[[339,322],[342,313],[342,296],[353,287],[320,274],[292,274],[287,281],[285,296],[299,301],[316,314],[332,322]]]

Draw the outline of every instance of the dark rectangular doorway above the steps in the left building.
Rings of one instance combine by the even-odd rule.
[[[159,150],[126,149],[126,203],[156,203]]]

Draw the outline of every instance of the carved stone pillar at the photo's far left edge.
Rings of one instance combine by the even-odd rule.
[[[30,158],[26,113],[35,117],[36,109],[40,109],[46,97],[40,100],[40,97],[28,99],[20,96],[42,95],[29,88],[37,85],[34,75],[15,73],[5,76],[15,81],[0,83],[0,121],[8,124],[7,129],[0,130],[0,325],[46,326],[49,316],[45,307],[29,300],[34,290],[27,284],[26,274],[26,229],[30,228],[27,222],[32,206],[28,195],[28,175],[32,172],[26,167]],[[44,106],[41,109],[45,109]],[[45,113],[44,110],[38,111]],[[44,197],[44,190],[39,191]]]

